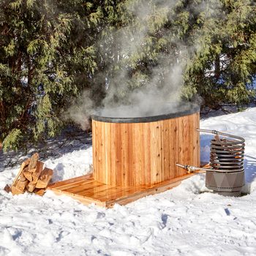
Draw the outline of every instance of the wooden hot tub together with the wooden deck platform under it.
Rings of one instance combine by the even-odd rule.
[[[128,108],[124,115],[118,108],[92,116],[93,173],[48,189],[110,208],[172,189],[194,175],[176,162],[200,165],[199,108],[154,105],[151,111]]]

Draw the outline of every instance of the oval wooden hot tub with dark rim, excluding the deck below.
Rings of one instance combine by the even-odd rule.
[[[93,176],[113,186],[153,185],[187,174],[176,162],[200,166],[199,107],[181,105],[156,116],[92,116]],[[132,116],[132,113],[131,113]]]

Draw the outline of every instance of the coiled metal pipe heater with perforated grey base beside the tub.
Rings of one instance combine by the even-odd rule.
[[[244,186],[244,138],[209,129],[197,132],[214,134],[211,140],[210,166],[201,168],[176,164],[188,173],[206,170],[206,187],[221,195],[241,195]],[[219,135],[222,138],[219,138]]]

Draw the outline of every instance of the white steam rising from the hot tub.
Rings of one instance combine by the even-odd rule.
[[[140,1],[139,5],[129,7],[129,11],[140,20],[140,24],[143,24],[142,27],[135,29],[132,34],[127,33],[123,28],[116,31],[118,40],[114,47],[118,51],[118,58],[114,62],[118,63],[121,59],[124,66],[115,70],[114,76],[105,75],[106,96],[101,108],[96,108],[94,97],[88,91],[69,108],[67,116],[80,124],[83,129],[88,127],[88,119],[92,113],[123,118],[154,116],[162,113],[174,113],[176,110],[181,110],[184,105],[181,102],[184,69],[189,57],[200,48],[200,45],[189,48],[181,42],[173,42],[173,45],[176,45],[173,52],[157,56],[158,64],[151,69],[149,79],[129,74],[129,68],[132,68],[130,65],[135,62],[129,61],[129,59],[138,56],[146,36],[151,30],[150,17],[153,14],[157,15],[158,12],[165,13],[178,1],[157,0],[155,2],[158,4],[157,10],[152,10],[148,1]],[[113,69],[114,67],[109,67],[109,71],[113,71]],[[102,74],[100,75],[102,76]],[[187,107],[188,105],[186,105]]]

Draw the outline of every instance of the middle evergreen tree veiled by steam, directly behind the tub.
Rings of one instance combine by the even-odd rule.
[[[108,7],[99,41],[105,60],[102,79],[108,80],[103,104],[134,104],[129,94],[143,87],[173,90],[172,84],[166,86],[167,76],[188,58],[192,43],[183,2],[127,0]]]

